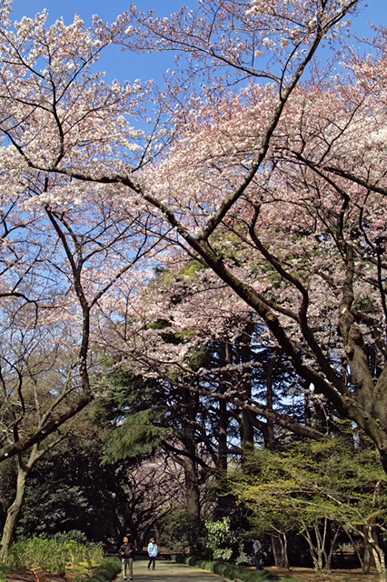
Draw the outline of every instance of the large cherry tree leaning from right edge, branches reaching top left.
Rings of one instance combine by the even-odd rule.
[[[343,19],[359,5],[206,0],[170,19],[132,6],[111,26],[95,18],[89,31],[79,18],[46,30],[45,15],[37,15],[22,19],[13,33],[5,15],[0,131],[5,167],[16,183],[21,176],[34,184],[48,180],[35,205],[45,208],[62,244],[65,235],[74,247],[81,239],[61,222],[62,206],[80,204],[81,212],[87,196],[100,196],[101,205],[108,201],[114,225],[119,216],[123,228],[134,226],[130,244],[120,246],[123,231],[114,239],[120,250],[112,251],[113,275],[110,254],[104,261],[96,251],[88,255],[94,273],[108,270],[104,286],[93,276],[85,286],[79,263],[70,261],[86,321],[98,306],[104,339],[124,329],[127,343],[131,334],[141,344],[137,361],[151,374],[163,373],[160,363],[181,366],[187,346],[163,362],[152,353],[153,330],[130,328],[133,314],[144,311],[138,289],[149,275],[138,271],[137,279],[126,280],[120,268],[126,268],[128,249],[140,248],[143,256],[157,246],[157,260],[166,264],[194,258],[225,286],[228,306],[260,322],[259,341],[283,351],[303,390],[323,395],[361,426],[387,465],[383,174],[372,175],[367,185],[362,177],[369,130],[381,119],[383,85],[377,95],[369,86],[372,67],[362,75],[367,59],[353,56],[340,83],[329,71],[319,75],[313,60],[322,43],[340,42]],[[151,84],[137,81],[104,85],[91,75],[88,66],[111,42],[134,52],[177,53],[164,92],[154,95]],[[136,116],[149,121],[148,134],[134,129]],[[104,242],[105,248],[115,247]],[[154,266],[150,256],[147,266]],[[112,281],[118,284],[107,296]],[[161,305],[154,297],[151,315]],[[149,332],[141,341],[140,329]],[[243,406],[302,430],[266,406]],[[309,428],[304,431],[311,435]]]

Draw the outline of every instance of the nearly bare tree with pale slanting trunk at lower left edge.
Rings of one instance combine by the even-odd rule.
[[[55,327],[55,333],[58,332]],[[72,377],[76,358],[58,346],[58,340],[59,336],[56,336],[54,341],[53,329],[46,326],[23,328],[23,318],[18,321],[17,316],[9,325],[6,336],[2,337],[0,381],[3,399],[0,411],[3,422],[0,434],[8,443],[17,443],[26,433],[44,426],[50,412],[61,414],[66,398],[76,389]],[[65,432],[58,423],[55,433],[48,434],[44,444],[37,442],[28,451],[19,452],[15,457],[16,475],[12,487],[15,497],[8,501],[5,508],[6,518],[0,544],[2,559],[7,556],[14,536],[28,479],[35,464],[64,438]]]

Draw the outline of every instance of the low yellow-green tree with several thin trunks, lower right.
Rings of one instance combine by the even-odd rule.
[[[283,453],[256,451],[253,470],[235,476],[232,489],[253,508],[258,531],[278,532],[283,547],[287,532],[305,537],[317,570],[330,569],[343,528],[362,537],[385,579],[376,532],[385,530],[387,483],[375,451],[356,448],[351,438],[297,443]]]

